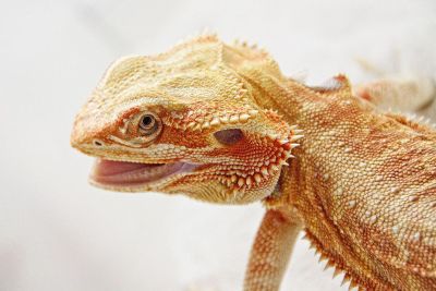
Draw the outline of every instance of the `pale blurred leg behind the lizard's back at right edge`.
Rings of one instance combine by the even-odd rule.
[[[436,98],[436,83],[432,77],[383,77],[356,85],[355,93],[384,109],[420,111]]]

